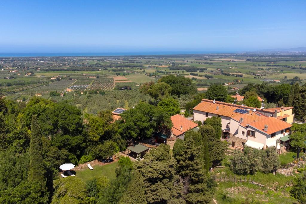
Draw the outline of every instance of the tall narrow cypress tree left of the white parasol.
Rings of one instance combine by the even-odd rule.
[[[28,181],[31,184],[37,185],[39,191],[41,192],[39,197],[44,200],[43,202],[47,202],[49,194],[46,188],[46,169],[43,163],[43,142],[36,115],[32,116],[31,130]]]

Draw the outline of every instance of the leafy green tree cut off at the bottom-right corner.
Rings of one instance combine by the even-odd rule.
[[[291,189],[291,195],[296,198],[300,203],[306,203],[306,172],[303,175],[298,176],[296,179],[296,185]]]

